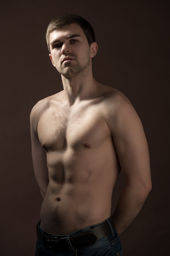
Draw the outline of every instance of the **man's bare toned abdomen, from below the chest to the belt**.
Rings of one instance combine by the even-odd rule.
[[[71,154],[66,164],[49,165],[49,184],[41,207],[41,226],[45,231],[70,234],[109,218],[119,173],[111,151],[103,156],[102,150],[101,157],[99,152],[84,151],[79,157]]]

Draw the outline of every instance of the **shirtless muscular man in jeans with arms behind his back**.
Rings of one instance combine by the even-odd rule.
[[[63,90],[31,111],[33,166],[44,198],[35,255],[123,255],[119,236],[151,189],[141,121],[124,94],[94,80],[98,46],[89,22],[57,17],[46,40]],[[110,218],[120,170],[126,184]]]

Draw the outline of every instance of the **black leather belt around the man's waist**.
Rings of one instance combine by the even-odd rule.
[[[113,220],[109,220],[114,229]],[[37,224],[37,238],[44,247],[52,251],[65,251],[70,250],[70,247],[67,242],[67,236],[58,236],[50,234],[46,231],[39,231],[39,223]],[[85,232],[72,236],[70,234],[70,243],[74,249],[78,247],[85,247],[88,245],[93,245],[97,240],[108,236],[111,234],[111,229],[108,222],[104,222],[98,227],[90,228]]]

